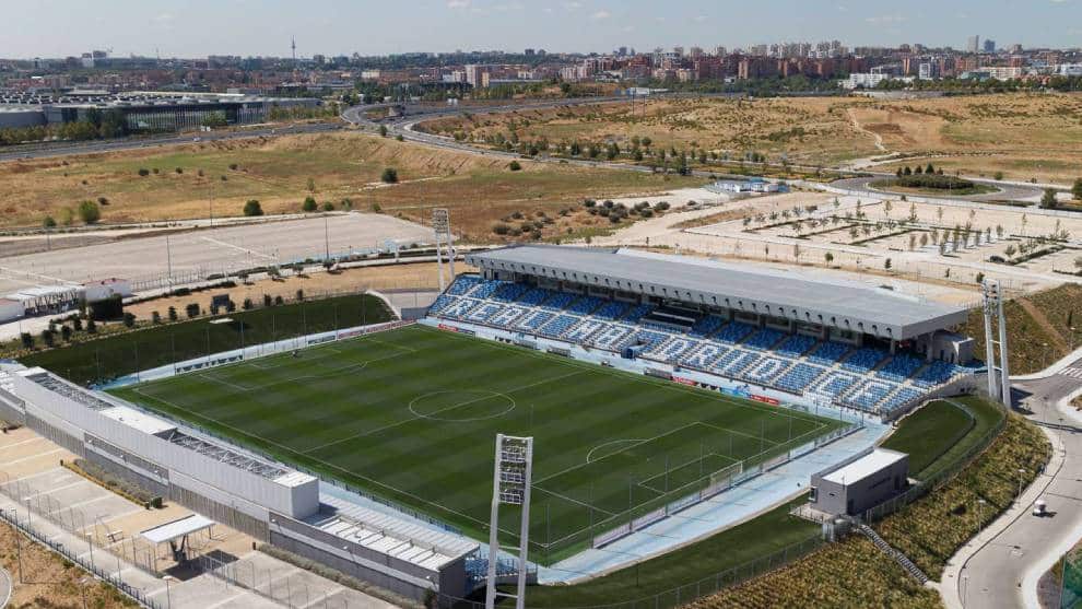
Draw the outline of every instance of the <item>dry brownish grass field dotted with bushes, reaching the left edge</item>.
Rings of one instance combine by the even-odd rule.
[[[426,208],[452,208],[457,230],[487,233],[516,211],[555,213],[585,197],[654,194],[695,180],[456,153],[357,133],[306,134],[186,144],[0,164],[5,197],[0,226],[61,224],[80,201],[104,198],[103,222],[238,215],[258,199],[266,213],[301,211],[313,196],[336,207],[378,204],[417,219]],[[380,181],[386,167],[399,183]],[[150,172],[140,176],[139,171]],[[179,169],[179,172],[178,172]],[[155,173],[156,172],[156,173]],[[309,183],[310,180],[310,183]],[[701,180],[699,180],[701,181]],[[78,222],[78,219],[75,220]]]

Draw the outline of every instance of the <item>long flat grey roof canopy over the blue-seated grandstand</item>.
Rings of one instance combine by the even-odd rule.
[[[466,261],[482,270],[793,319],[883,339],[912,339],[963,324],[967,316],[964,308],[861,283],[628,249],[524,245],[470,254]]]

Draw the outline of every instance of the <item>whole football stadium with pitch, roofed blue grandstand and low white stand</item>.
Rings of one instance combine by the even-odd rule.
[[[0,414],[271,544],[462,597],[489,562],[513,570],[483,543],[497,434],[533,443],[498,540],[518,544],[528,513],[530,581],[566,583],[783,504],[974,383],[966,312],[882,288],[627,249],[466,262],[420,319],[105,390],[11,370]]]

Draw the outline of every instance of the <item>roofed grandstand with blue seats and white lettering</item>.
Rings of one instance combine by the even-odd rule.
[[[892,419],[965,375],[966,312],[863,284],[626,249],[467,256],[430,316]]]

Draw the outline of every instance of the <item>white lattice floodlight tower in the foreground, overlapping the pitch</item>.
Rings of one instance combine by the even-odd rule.
[[[515,599],[515,609],[526,606],[526,563],[530,541],[530,481],[533,476],[533,438],[496,434],[496,467],[492,480],[492,520],[489,525],[489,586],[485,609],[493,609],[496,596]],[[499,560],[499,506],[520,505],[518,535],[518,585],[515,594],[496,592],[496,566]],[[514,548],[508,548],[514,549]]]

